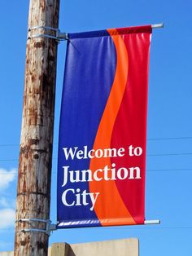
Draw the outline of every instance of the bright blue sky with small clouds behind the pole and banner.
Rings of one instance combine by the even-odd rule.
[[[141,256],[192,254],[192,2],[61,1],[59,29],[80,32],[164,22],[151,43],[147,128],[146,219],[160,225],[59,230],[50,243],[137,237]],[[2,2],[0,86],[0,251],[14,244],[16,171],[24,91],[28,1]],[[59,44],[51,220],[56,222],[59,105],[66,42]]]

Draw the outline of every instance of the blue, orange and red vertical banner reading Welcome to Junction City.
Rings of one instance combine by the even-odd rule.
[[[142,224],[151,26],[68,34],[58,228]]]

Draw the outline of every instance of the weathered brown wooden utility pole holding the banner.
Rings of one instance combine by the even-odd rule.
[[[47,255],[57,42],[33,37],[58,24],[59,0],[30,0],[14,255]]]

